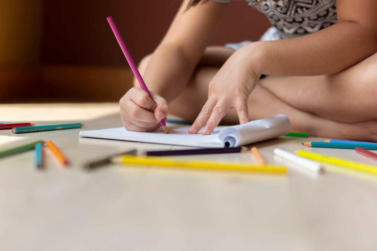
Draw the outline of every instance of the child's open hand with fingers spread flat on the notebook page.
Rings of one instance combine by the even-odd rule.
[[[247,99],[261,74],[245,52],[240,49],[225,62],[208,86],[204,104],[189,133],[210,134],[230,107],[236,107],[239,123],[249,122]]]

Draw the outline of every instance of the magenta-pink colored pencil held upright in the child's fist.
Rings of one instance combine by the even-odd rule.
[[[115,24],[113,18],[112,17],[108,17],[107,21],[109,22],[110,27],[111,27],[114,35],[115,35],[115,38],[118,41],[118,43],[119,43],[119,45],[120,45],[120,47],[121,47],[121,49],[123,51],[123,54],[126,57],[127,62],[129,63],[129,65],[131,67],[131,70],[132,70],[133,74],[135,75],[136,79],[138,80],[141,89],[143,89],[146,93],[148,93],[148,96],[152,99],[153,102],[155,102],[154,99],[152,98],[152,95],[150,95],[150,92],[149,92],[149,90],[147,88],[147,85],[145,84],[143,78],[140,75],[138,67],[136,67],[135,62],[133,61],[133,58],[132,58],[130,52],[128,51],[126,44],[124,43],[123,38],[122,38],[122,36],[121,36],[118,28],[116,27],[116,24]],[[164,119],[162,119],[160,121],[160,126],[162,127],[162,129],[164,129],[164,131],[166,133],[168,133],[167,126],[165,124]]]

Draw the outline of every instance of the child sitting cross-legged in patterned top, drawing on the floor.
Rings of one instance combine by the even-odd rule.
[[[138,83],[120,100],[127,130],[152,132],[174,114],[207,135],[283,113],[295,131],[377,141],[377,1],[246,0],[273,24],[262,40],[277,40],[206,47],[228,2],[183,1],[139,65],[156,104]]]

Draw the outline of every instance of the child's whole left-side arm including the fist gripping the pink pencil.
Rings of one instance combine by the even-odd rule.
[[[141,73],[156,104],[139,87],[131,88],[120,100],[120,115],[127,130],[152,132],[159,128],[159,121],[170,112],[168,102],[189,82],[227,6],[208,1],[186,11],[188,3],[189,0],[182,3]]]

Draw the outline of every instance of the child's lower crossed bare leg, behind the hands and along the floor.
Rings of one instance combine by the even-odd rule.
[[[181,95],[170,104],[172,114],[190,121],[195,120],[207,100],[209,82],[232,53],[232,50],[221,47],[210,47],[205,52],[201,63],[193,74],[191,81],[187,84],[187,87]],[[216,57],[213,57],[214,54]],[[141,72],[145,69],[145,64],[146,61],[144,61],[144,66],[143,63],[139,66]],[[266,80],[268,78],[266,78]],[[257,86],[251,93],[248,99],[248,110],[251,120],[266,118],[279,113],[285,114],[290,118],[292,130],[294,131],[309,132],[311,135],[329,138],[377,141],[377,130],[371,132],[371,128],[377,127],[376,121],[360,123],[331,121],[290,106],[263,86]],[[232,109],[229,110],[222,120],[222,123],[238,124],[239,121],[236,111]]]

